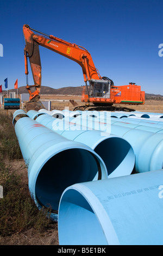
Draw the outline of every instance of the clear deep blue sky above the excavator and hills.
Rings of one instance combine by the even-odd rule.
[[[85,47],[101,76],[116,86],[135,82],[146,93],[163,95],[161,0],[0,0],[0,85],[26,86],[22,27],[28,24]],[[84,85],[82,68],[60,54],[40,47],[42,86]],[[29,84],[33,77],[29,68]]]

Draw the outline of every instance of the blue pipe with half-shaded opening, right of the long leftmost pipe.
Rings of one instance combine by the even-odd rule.
[[[131,174],[135,165],[135,154],[131,145],[119,136],[89,130],[76,123],[77,118],[55,119],[40,116],[36,121],[60,135],[75,142],[84,143],[103,159],[108,178]]]

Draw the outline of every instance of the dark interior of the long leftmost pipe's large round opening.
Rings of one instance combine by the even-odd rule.
[[[61,151],[51,157],[40,170],[35,185],[36,199],[41,206],[56,211],[65,188],[79,182],[92,181],[98,172],[101,174],[101,167],[90,151]]]

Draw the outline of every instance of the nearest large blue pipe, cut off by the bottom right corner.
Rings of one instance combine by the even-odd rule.
[[[74,184],[59,204],[59,245],[163,245],[162,170]]]

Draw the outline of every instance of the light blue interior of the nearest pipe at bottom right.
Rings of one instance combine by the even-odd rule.
[[[58,228],[60,245],[108,245],[95,212],[76,190],[61,198]]]

